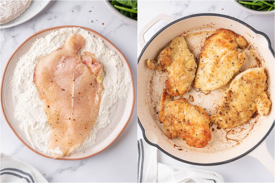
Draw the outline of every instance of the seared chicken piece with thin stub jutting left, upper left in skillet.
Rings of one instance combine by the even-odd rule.
[[[161,51],[158,62],[149,59],[147,64],[150,69],[168,71],[165,87],[167,93],[174,97],[188,91],[197,69],[194,55],[189,51],[183,36],[175,37],[171,44]]]

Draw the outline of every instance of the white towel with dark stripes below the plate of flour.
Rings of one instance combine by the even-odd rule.
[[[1,152],[1,182],[48,182],[31,165]]]

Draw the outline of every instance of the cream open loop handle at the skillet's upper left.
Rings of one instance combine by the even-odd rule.
[[[153,18],[150,22],[148,22],[139,32],[139,45],[141,48],[144,47],[145,45],[145,40],[144,40],[144,34],[153,26],[155,25],[158,21],[164,20],[168,23],[174,21],[175,19],[172,18],[171,16],[165,15],[165,14],[160,14]]]

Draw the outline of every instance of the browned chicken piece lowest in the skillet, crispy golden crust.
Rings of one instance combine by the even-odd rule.
[[[164,89],[161,96],[159,119],[166,136],[179,136],[191,147],[202,148],[211,140],[209,116],[200,106],[189,104],[185,98],[172,100]]]

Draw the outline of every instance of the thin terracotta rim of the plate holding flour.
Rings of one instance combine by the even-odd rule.
[[[122,57],[125,59],[126,63],[127,63],[127,66],[128,66],[128,69],[129,69],[129,72],[130,72],[130,76],[131,76],[131,83],[132,83],[132,88],[133,88],[133,103],[132,103],[132,108],[131,108],[131,112],[130,112],[130,115],[128,117],[128,120],[127,122],[125,123],[125,125],[122,127],[122,129],[120,130],[120,132],[117,134],[117,136],[111,141],[111,143],[109,143],[106,147],[104,147],[103,149],[101,149],[100,151],[97,151],[89,156],[85,156],[85,157],[80,157],[80,158],[54,158],[54,157],[51,157],[51,156],[47,156],[45,154],[42,154],[36,150],[34,150],[32,147],[30,147],[29,145],[26,144],[26,142],[24,142],[24,140],[22,140],[18,134],[16,133],[16,131],[13,129],[12,125],[10,124],[9,120],[7,119],[7,116],[5,114],[5,111],[4,111],[4,106],[3,106],[3,97],[2,97],[2,90],[3,90],[3,82],[4,82],[4,77],[5,77],[5,73],[6,73],[6,70],[7,70],[7,66],[9,65],[10,63],[10,60],[13,58],[13,56],[16,54],[16,52],[21,48],[21,46],[23,46],[23,44],[25,44],[28,40],[30,40],[31,38],[33,38],[34,36],[37,36],[39,35],[40,33],[43,33],[43,32],[46,32],[46,31],[49,31],[49,30],[54,30],[54,29],[61,29],[61,28],[65,28],[65,27],[80,27],[81,29],[85,29],[85,30],[88,30],[88,31],[91,31],[92,33],[94,34],[97,34],[98,36],[100,36],[101,38],[103,38],[103,40],[107,41],[109,44],[111,44],[113,47],[115,47],[115,49],[122,55]],[[56,27],[50,27],[50,28],[46,28],[46,29],[43,29],[43,30],[40,30],[36,33],[34,33],[33,35],[29,36],[26,40],[23,41],[23,43],[21,43],[17,49],[15,49],[15,51],[12,53],[12,55],[9,57],[9,60],[7,61],[6,65],[5,65],[5,68],[4,68],[4,71],[3,71],[3,75],[2,75],[2,79],[1,79],[1,109],[2,109],[2,113],[3,113],[3,116],[6,120],[6,122],[8,123],[9,127],[12,129],[13,133],[15,134],[15,136],[17,136],[17,138],[27,147],[29,148],[30,150],[32,150],[33,152],[35,152],[36,154],[39,154],[40,156],[43,156],[43,157],[47,157],[47,158],[50,158],[50,159],[57,159],[57,160],[81,160],[81,159],[86,159],[86,158],[89,158],[89,157],[92,157],[92,156],[95,156],[97,155],[98,153],[101,153],[102,151],[104,151],[105,149],[107,149],[119,136],[120,134],[124,131],[124,129],[126,128],[126,126],[128,125],[131,117],[132,117],[132,114],[133,114],[133,111],[134,111],[134,104],[135,104],[135,87],[134,87],[134,78],[133,78],[133,72],[132,72],[132,69],[131,69],[131,66],[127,60],[127,58],[123,55],[123,53],[111,42],[109,41],[107,38],[105,38],[103,35],[101,35],[100,33],[96,32],[95,30],[92,30],[92,29],[89,29],[87,27],[82,27],[82,26],[56,26]]]

